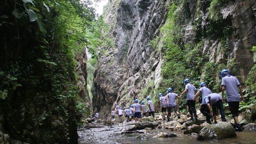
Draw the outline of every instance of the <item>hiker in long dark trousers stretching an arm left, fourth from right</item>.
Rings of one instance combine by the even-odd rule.
[[[185,85],[185,90],[180,94],[179,98],[183,96],[185,93],[187,93],[187,104],[188,104],[188,110],[190,113],[190,120],[194,120],[193,114],[195,117],[195,120],[197,120],[197,115],[196,115],[196,102],[193,100],[194,98],[194,92],[196,91],[196,87],[193,84],[190,84],[189,79],[184,80],[184,85]]]

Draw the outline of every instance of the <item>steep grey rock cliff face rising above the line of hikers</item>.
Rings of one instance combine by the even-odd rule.
[[[170,16],[174,11],[169,7],[174,3],[176,15],[180,12],[178,18]],[[171,85],[161,74],[168,53],[165,50],[172,49],[162,40],[166,33],[160,30],[166,25],[167,16],[175,19],[174,24],[179,27],[170,27],[170,31],[179,36],[176,43],[184,53],[197,46],[199,57],[207,57],[206,61],[217,67],[234,67],[233,74],[244,82],[254,64],[250,49],[256,45],[255,0],[110,0],[104,18],[112,28],[110,36],[115,47],[102,48],[107,54],[99,58],[95,72],[94,111],[105,112],[113,108],[114,102],[127,106],[135,98],[142,100],[146,96],[156,102],[158,90],[162,88],[164,92],[164,87]],[[207,79],[207,66],[203,63],[198,67],[196,80]],[[212,79],[216,85],[217,79],[216,70]],[[181,87],[176,85],[177,89]]]

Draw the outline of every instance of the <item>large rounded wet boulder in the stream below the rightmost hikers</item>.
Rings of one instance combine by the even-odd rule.
[[[218,122],[218,124],[210,124],[205,126],[198,133],[197,140],[220,140],[224,138],[233,138],[236,132],[228,122]]]

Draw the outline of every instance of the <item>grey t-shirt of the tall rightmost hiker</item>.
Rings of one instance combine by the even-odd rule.
[[[240,96],[237,90],[237,87],[240,86],[240,82],[235,76],[225,76],[222,78],[221,85],[226,88],[228,102],[240,101]]]

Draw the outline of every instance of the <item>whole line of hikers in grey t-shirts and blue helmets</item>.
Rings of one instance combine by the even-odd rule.
[[[200,89],[197,91],[196,87],[190,83],[189,79],[184,80],[185,90],[180,94],[180,96],[174,93],[172,91],[172,88],[167,89],[165,96],[162,93],[159,93],[158,96],[161,104],[160,107],[163,120],[165,120],[166,118],[168,119],[168,121],[170,121],[170,119],[172,120],[174,112],[176,116],[180,118],[178,112],[178,104],[180,104],[180,98],[186,94],[188,110],[191,117],[190,120],[197,121],[196,101],[198,102],[199,100],[199,94],[202,94],[202,105],[200,107],[200,112],[204,116],[206,116],[206,122],[211,124],[214,120],[214,123],[217,123],[217,109],[219,109],[220,111],[222,121],[226,122],[225,112],[223,108],[223,102],[225,102],[224,91],[226,90],[228,106],[235,122],[234,128],[236,131],[242,131],[242,128],[238,122],[239,102],[240,100],[242,101],[244,99],[242,93],[242,86],[240,85],[238,79],[235,76],[230,76],[229,71],[226,69],[222,70],[221,77],[222,97],[217,93],[212,93],[205,82],[200,83]],[[240,90],[240,96],[237,89],[238,87]],[[176,104],[176,98],[178,98],[178,104]],[[118,114],[119,117],[125,115],[128,120],[130,120],[131,117],[131,119],[135,122],[140,122],[140,118],[146,116],[146,112],[148,112],[148,115],[152,115],[152,117],[155,119],[153,102],[150,100],[150,97],[147,97],[146,100],[148,104],[147,111],[145,102],[142,101],[141,104],[139,104],[138,99],[136,99],[134,101],[134,104],[131,104],[131,106],[127,106],[124,110],[117,103],[115,103],[115,109],[112,110],[111,116],[114,118],[116,114]]]

